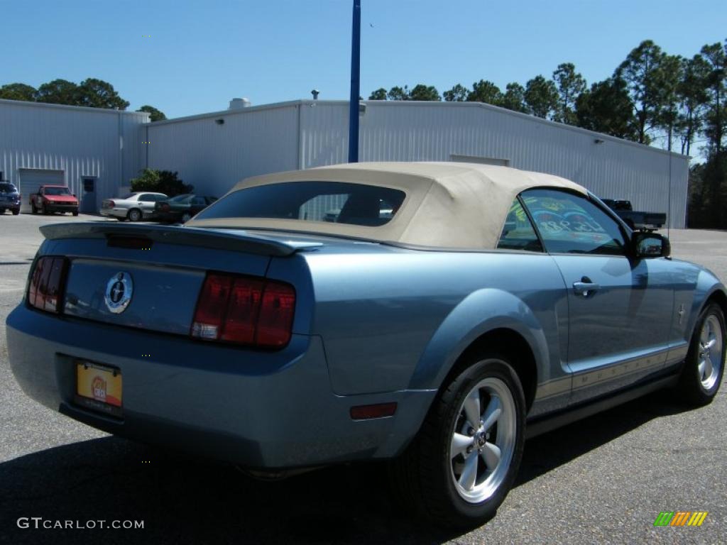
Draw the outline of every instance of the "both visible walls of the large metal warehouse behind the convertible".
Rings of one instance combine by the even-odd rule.
[[[149,166],[180,171],[198,191],[221,195],[255,174],[347,161],[348,102],[223,111],[150,124],[148,131]],[[671,206],[670,226],[685,225],[688,158],[489,105],[369,101],[360,146],[361,161],[507,160],[605,198],[627,198],[636,209]]]

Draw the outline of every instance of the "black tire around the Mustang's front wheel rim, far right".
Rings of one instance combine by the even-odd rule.
[[[707,324],[707,328],[715,328],[717,330],[715,334],[720,335],[719,342],[721,347],[718,350],[718,357],[712,358],[718,364],[718,368],[714,374],[710,374],[711,378],[703,376],[702,371],[700,371],[700,363],[704,361],[705,355],[704,347],[702,346],[702,331],[705,324]],[[679,377],[678,391],[688,403],[696,406],[707,405],[717,395],[725,371],[724,361],[727,351],[726,336],[725,317],[722,308],[716,303],[707,304],[702,312],[699,313],[699,318],[694,325],[689,351],[687,352],[684,367]],[[710,357],[710,350],[706,351],[706,355],[707,358]],[[712,369],[714,368],[715,366],[712,365]]]

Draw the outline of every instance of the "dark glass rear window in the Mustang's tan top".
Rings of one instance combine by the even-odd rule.
[[[281,182],[237,190],[196,219],[299,219],[377,227],[389,222],[406,193],[348,182]]]

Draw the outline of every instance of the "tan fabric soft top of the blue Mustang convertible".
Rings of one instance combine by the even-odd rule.
[[[349,182],[402,190],[406,198],[393,219],[368,227],[298,219],[192,219],[190,227],[246,227],[348,235],[375,241],[459,249],[493,249],[513,199],[531,187],[562,187],[586,193],[568,179],[473,163],[349,163],[244,179],[230,190],[278,182]],[[214,208],[214,205],[212,205]]]

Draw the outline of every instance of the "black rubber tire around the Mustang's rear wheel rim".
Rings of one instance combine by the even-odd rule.
[[[462,371],[454,379],[446,384],[438,394],[427,417],[419,429],[417,437],[411,442],[406,451],[390,464],[390,480],[394,485],[395,493],[400,496],[402,504],[413,508],[415,514],[419,514],[423,520],[433,522],[435,525],[450,528],[473,528],[487,522],[497,512],[497,508],[505,500],[505,496],[515,481],[520,467],[523,454],[523,443],[525,440],[525,415],[526,403],[523,387],[515,374],[513,367],[508,363],[505,355],[498,352],[488,352],[478,355],[476,358],[469,358],[462,366]],[[454,433],[462,423],[462,407],[465,398],[475,387],[482,384],[485,379],[497,379],[505,385],[510,393],[512,405],[507,411],[510,413],[510,429],[514,429],[510,448],[512,449],[510,461],[502,469],[499,465],[493,470],[493,474],[502,471],[502,480],[494,488],[488,497],[482,501],[466,500],[458,491],[455,483],[457,476],[455,468],[457,460],[462,458],[451,456],[451,445]],[[479,391],[479,390],[478,390]],[[481,396],[483,396],[481,394]],[[486,403],[484,397],[481,402]],[[505,411],[503,411],[503,414]],[[465,419],[465,426],[467,426]],[[500,421],[491,429],[499,427]],[[503,426],[505,424],[502,424]],[[505,429],[505,427],[503,427]],[[468,432],[473,435],[473,430]],[[499,443],[499,431],[495,442]],[[505,433],[505,432],[503,432]],[[475,438],[481,434],[475,435]],[[475,439],[473,438],[473,440]],[[483,437],[480,437],[483,439]],[[489,441],[490,435],[487,436]],[[475,440],[473,445],[482,445]],[[480,468],[484,461],[479,459],[476,452],[467,451],[466,456],[476,456],[475,474],[479,475]],[[503,449],[503,452],[505,450]],[[499,461],[498,463],[505,463]],[[462,463],[461,466],[466,464]],[[460,475],[462,478],[464,470]],[[480,480],[479,477],[476,477]],[[486,480],[489,477],[484,477]],[[480,482],[480,484],[483,481]],[[461,490],[461,489],[460,489]]]

